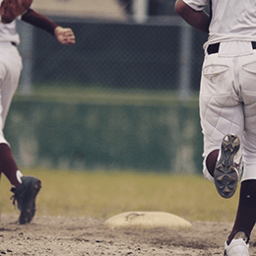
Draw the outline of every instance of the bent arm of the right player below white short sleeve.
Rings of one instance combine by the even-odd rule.
[[[210,16],[205,11],[195,11],[182,0],[176,0],[176,13],[190,26],[200,32],[209,33]]]

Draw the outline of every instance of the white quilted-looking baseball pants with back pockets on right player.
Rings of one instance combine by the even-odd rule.
[[[224,135],[241,141],[242,180],[256,179],[256,50],[250,41],[222,42],[219,53],[208,55],[202,67],[200,117],[207,156],[220,149]],[[203,163],[206,178],[213,181]]]

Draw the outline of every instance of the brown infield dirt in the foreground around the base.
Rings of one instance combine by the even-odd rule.
[[[18,216],[0,219],[0,255],[223,255],[231,224],[192,223],[192,229],[109,229],[106,220],[37,217],[17,224]],[[255,243],[255,244],[254,244]],[[256,233],[250,253],[256,255]]]

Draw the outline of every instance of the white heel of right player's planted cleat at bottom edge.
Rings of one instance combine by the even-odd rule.
[[[249,244],[242,238],[232,239],[229,244],[224,243],[224,256],[250,256]]]

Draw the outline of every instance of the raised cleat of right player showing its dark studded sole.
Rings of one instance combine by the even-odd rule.
[[[224,136],[221,158],[215,168],[215,185],[218,193],[224,198],[233,196],[238,182],[238,170],[234,164],[234,156],[240,148],[240,140],[235,134]]]

